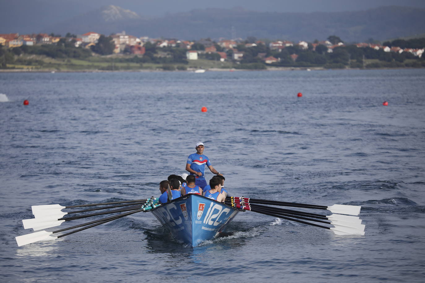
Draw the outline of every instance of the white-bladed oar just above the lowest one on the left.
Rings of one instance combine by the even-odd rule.
[[[152,204],[156,204],[158,203],[157,200],[155,200],[154,202],[152,202]],[[144,204],[147,205],[147,204]],[[98,215],[104,215],[104,214],[110,214],[110,213],[119,213],[119,212],[125,212],[125,211],[130,211],[130,210],[136,210],[143,207],[142,205],[134,205],[134,206],[130,206],[127,208],[121,208],[121,209],[116,209],[116,210],[109,210],[106,212],[100,212],[100,213],[92,213],[92,214],[85,214],[85,215],[81,215],[81,216],[74,216],[74,217],[63,217],[63,218],[57,218],[57,219],[52,219],[51,217],[38,217],[38,218],[32,218],[32,219],[23,219],[22,220],[22,224],[24,229],[33,229],[34,231],[37,230],[42,230],[42,229],[46,229],[46,228],[50,228],[50,227],[56,227],[59,226],[60,224],[62,224],[65,221],[71,221],[71,220],[75,220],[75,219],[82,219],[82,218],[87,218],[87,217],[91,217],[91,216],[98,216]]]

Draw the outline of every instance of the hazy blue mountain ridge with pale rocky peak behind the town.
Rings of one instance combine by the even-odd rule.
[[[105,12],[105,11],[108,12]],[[105,20],[105,14],[110,20]],[[255,36],[292,41],[326,39],[340,36],[347,42],[368,38],[386,40],[421,34],[425,28],[425,9],[403,6],[382,6],[361,11],[345,12],[256,12],[242,7],[232,9],[206,8],[145,18],[119,6],[102,8],[80,14],[57,23],[44,32],[101,34],[126,31],[134,36],[153,38],[232,38]]]

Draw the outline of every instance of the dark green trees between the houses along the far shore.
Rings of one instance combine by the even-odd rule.
[[[6,64],[19,62],[21,64],[38,64],[40,60],[20,59],[22,54],[45,55],[51,58],[67,59],[87,59],[92,56],[92,52],[99,55],[109,55],[113,53],[115,44],[111,36],[101,35],[98,42],[91,46],[91,49],[75,47],[75,39],[60,39],[56,44],[50,45],[23,45],[15,48],[0,48],[0,67],[6,68]],[[338,36],[329,36],[332,42],[342,42]],[[346,45],[333,48],[333,52],[328,52],[325,45],[316,45],[314,48],[312,43],[308,44],[307,49],[299,46],[288,46],[282,50],[272,50],[265,44],[257,44],[257,46],[246,47],[246,43],[255,42],[256,39],[248,37],[244,42],[236,46],[240,52],[244,52],[244,56],[238,62],[235,62],[237,68],[247,69],[263,69],[266,65],[277,67],[314,67],[323,66],[325,68],[363,68],[363,67],[425,67],[425,57],[418,58],[409,52],[385,52],[382,49],[364,47],[358,48],[356,45]],[[208,45],[214,45],[217,51],[224,51],[216,42],[211,39],[204,39],[203,42]],[[316,41],[317,42],[317,41]],[[425,38],[421,39],[396,39],[392,42],[384,42],[387,46],[398,46],[400,48],[414,48],[417,46],[425,46]],[[158,48],[156,44],[146,42],[144,44],[144,56],[134,56],[132,58],[115,58],[115,62],[134,62],[134,63],[156,63],[156,64],[187,64],[186,48],[181,46]],[[193,50],[205,50],[205,45],[195,42],[192,45]],[[226,51],[227,57],[232,58],[233,50]],[[130,48],[126,48],[124,53],[130,54]],[[296,60],[292,58],[293,54],[297,55]],[[279,62],[265,64],[263,58],[273,56],[279,59]],[[220,60],[218,53],[199,53],[199,58],[208,60]],[[375,59],[374,62],[366,64],[366,59]],[[416,62],[406,62],[408,59],[416,59]],[[107,62],[108,58],[103,58],[102,62]]]

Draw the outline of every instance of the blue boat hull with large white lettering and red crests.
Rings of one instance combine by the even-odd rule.
[[[238,210],[204,196],[189,194],[156,207],[152,213],[174,238],[195,247],[215,238]]]

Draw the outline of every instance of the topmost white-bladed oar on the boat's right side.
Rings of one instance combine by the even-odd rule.
[[[303,208],[312,208],[312,209],[323,209],[323,210],[329,210],[332,213],[340,213],[340,214],[349,214],[349,215],[359,215],[361,206],[358,205],[331,205],[331,206],[324,206],[324,205],[307,205],[302,203],[296,203],[296,202],[278,202],[273,200],[267,200],[267,199],[251,199],[251,198],[245,198],[245,197],[236,197],[231,196],[229,197],[230,200],[232,199],[239,199],[243,201],[249,201],[250,203],[257,203],[257,204],[263,204],[263,205],[281,205],[281,206],[289,206],[289,207],[303,207]]]

